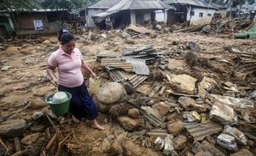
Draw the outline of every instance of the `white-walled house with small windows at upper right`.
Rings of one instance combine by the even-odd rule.
[[[166,0],[166,4],[176,10],[168,11],[168,25],[184,23],[185,25],[203,25],[211,23],[217,7],[200,0]]]

